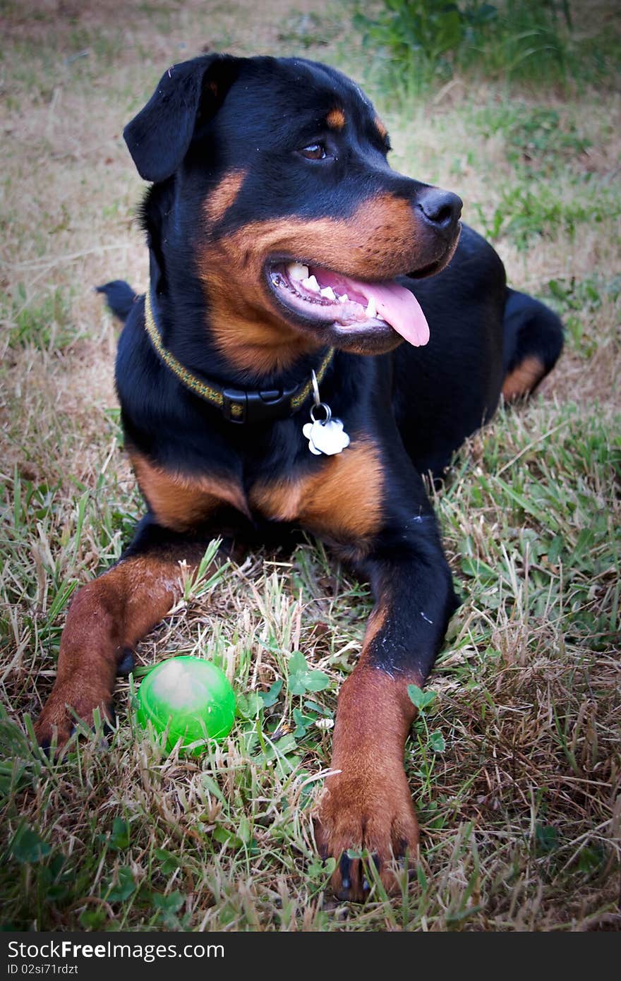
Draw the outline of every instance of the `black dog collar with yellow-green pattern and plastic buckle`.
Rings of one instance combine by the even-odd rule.
[[[144,326],[155,350],[167,368],[195,395],[205,399],[210,405],[220,409],[225,419],[231,423],[261,423],[273,419],[285,419],[301,409],[313,392],[313,383],[307,382],[286,389],[260,391],[252,388],[233,388],[218,385],[209,379],[201,379],[184,368],[171,351],[162,343],[155,325],[151,306],[150,290],[144,297]],[[321,384],[335,356],[335,348],[330,347],[319,365],[316,375]]]

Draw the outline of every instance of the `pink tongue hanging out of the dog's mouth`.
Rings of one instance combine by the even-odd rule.
[[[330,285],[338,294],[347,293],[350,300],[375,300],[376,309],[397,334],[415,347],[422,347],[429,340],[429,324],[416,297],[398,283],[362,283],[337,276],[327,270],[313,270],[320,285]]]

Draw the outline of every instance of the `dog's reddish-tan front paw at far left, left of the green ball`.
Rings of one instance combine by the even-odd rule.
[[[76,728],[76,716],[87,726],[94,725],[94,713],[112,724],[112,689],[96,679],[74,675],[64,683],[57,682],[34,725],[39,746],[49,749],[54,738],[62,749]]]

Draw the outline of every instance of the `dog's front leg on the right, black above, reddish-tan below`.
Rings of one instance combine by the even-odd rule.
[[[334,751],[315,833],[320,852],[336,858],[339,899],[362,901],[364,850],[388,891],[393,859],[418,850],[418,825],[403,767],[415,715],[408,685],[422,686],[455,608],[450,572],[433,516],[386,528],[363,563],[376,605],[360,660],[338,697]]]

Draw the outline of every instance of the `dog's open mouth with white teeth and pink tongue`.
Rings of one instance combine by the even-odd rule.
[[[321,266],[285,261],[273,262],[267,275],[279,302],[306,326],[365,333],[390,327],[417,347],[429,340],[418,300],[393,280],[368,283]]]

